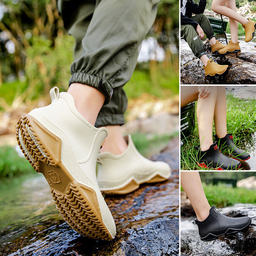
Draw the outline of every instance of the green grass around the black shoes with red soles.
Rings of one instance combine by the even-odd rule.
[[[227,94],[227,131],[234,135],[234,141],[249,138],[250,133],[256,131],[256,100],[240,100]],[[213,134],[215,128],[213,126]],[[192,135],[183,140],[180,151],[181,170],[206,170],[196,164],[196,146],[199,145],[197,119]],[[239,146],[239,144],[237,144]],[[207,169],[210,170],[210,169]],[[213,169],[212,169],[213,170]]]

